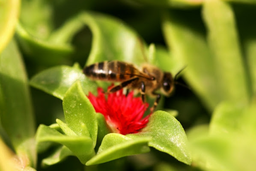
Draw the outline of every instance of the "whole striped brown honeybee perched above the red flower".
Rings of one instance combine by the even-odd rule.
[[[92,80],[120,82],[120,84],[110,88],[107,93],[125,87],[139,89],[143,103],[145,103],[145,94],[155,96],[156,99],[151,111],[155,110],[161,98],[161,94],[157,91],[160,90],[162,94],[169,96],[173,91],[179,72],[173,78],[170,72],[164,72],[153,65],[144,64],[139,70],[133,64],[116,60],[97,62],[83,68],[83,73]]]

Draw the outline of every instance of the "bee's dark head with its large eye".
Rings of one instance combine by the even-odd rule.
[[[174,79],[170,72],[164,72],[163,83],[162,83],[162,93],[169,96],[174,88]]]

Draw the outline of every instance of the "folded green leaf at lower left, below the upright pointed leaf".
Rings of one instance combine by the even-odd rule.
[[[86,136],[65,136],[53,128],[40,125],[36,133],[38,147],[40,143],[57,142],[68,147],[82,163],[86,163],[93,155],[93,141]],[[67,154],[67,153],[66,153]]]

